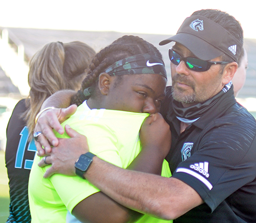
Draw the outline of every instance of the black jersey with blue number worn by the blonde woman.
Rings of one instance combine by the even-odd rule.
[[[20,115],[26,111],[25,100],[15,106],[7,126],[6,167],[10,187],[10,216],[7,222],[31,221],[28,181],[35,157],[34,140],[28,141],[28,127]]]

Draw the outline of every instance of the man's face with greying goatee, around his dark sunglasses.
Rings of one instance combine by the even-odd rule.
[[[195,57],[185,46],[176,43],[173,49],[183,57]],[[220,57],[212,59],[220,61]],[[184,107],[202,103],[216,95],[224,87],[222,66],[212,65],[209,70],[197,72],[186,67],[185,62],[179,65],[170,63],[172,72],[173,97]]]

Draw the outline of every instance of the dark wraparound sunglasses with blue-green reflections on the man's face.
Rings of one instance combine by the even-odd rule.
[[[210,66],[214,65],[214,64],[230,63],[227,61],[207,61],[207,60],[201,60],[201,59],[195,58],[195,57],[182,57],[178,53],[173,51],[173,49],[169,49],[169,58],[170,58],[170,61],[175,65],[179,65],[180,62],[183,60],[188,69],[194,70],[194,71],[199,71],[199,72],[206,71],[206,70],[210,69]]]

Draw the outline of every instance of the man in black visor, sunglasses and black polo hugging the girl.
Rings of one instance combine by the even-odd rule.
[[[200,10],[160,45],[171,41],[173,86],[162,114],[172,131],[166,159],[173,177],[124,170],[98,157],[83,177],[126,207],[175,222],[256,222],[256,122],[230,84],[243,45],[240,23],[221,11]],[[38,129],[49,135],[43,123]],[[46,144],[45,136],[40,140]],[[80,144],[81,153],[88,152]],[[55,165],[54,156],[47,162]],[[72,162],[66,168],[74,172]]]

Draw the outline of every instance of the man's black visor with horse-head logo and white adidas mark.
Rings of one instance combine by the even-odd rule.
[[[201,60],[211,60],[223,54],[238,62],[242,44],[216,22],[198,15],[187,17],[175,36],[159,45],[178,42]]]

